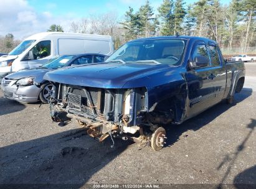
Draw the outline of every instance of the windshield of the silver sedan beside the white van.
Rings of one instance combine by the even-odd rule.
[[[42,65],[42,68],[52,68],[52,69],[62,68],[65,65],[67,65],[67,62],[69,62],[73,57],[75,56],[64,55],[59,58],[54,58],[50,60],[50,62],[47,62],[44,65]]]

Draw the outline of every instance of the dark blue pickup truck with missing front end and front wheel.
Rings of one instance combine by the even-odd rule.
[[[126,43],[105,63],[47,73],[57,88],[54,121],[77,120],[87,133],[151,144],[161,150],[164,128],[181,124],[222,100],[232,103],[244,85],[242,62],[227,62],[215,41],[152,37]]]

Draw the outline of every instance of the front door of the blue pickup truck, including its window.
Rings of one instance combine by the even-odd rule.
[[[218,84],[216,77],[219,72],[216,71],[216,67],[212,67],[209,49],[203,41],[198,41],[193,45],[189,61],[194,61],[197,56],[206,57],[208,61],[205,67],[187,71],[186,79],[189,93],[187,116],[189,118],[216,104],[217,101],[216,88]]]

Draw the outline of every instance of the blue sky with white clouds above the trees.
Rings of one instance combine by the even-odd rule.
[[[149,2],[156,11],[162,0]],[[230,0],[220,2],[228,4]],[[129,6],[137,11],[145,0],[0,0],[0,4],[0,35],[12,33],[16,39],[24,39],[45,32],[52,24],[60,24],[69,32],[70,22],[92,14],[115,12],[122,19]]]

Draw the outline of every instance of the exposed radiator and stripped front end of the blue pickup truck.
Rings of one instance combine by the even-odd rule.
[[[55,83],[55,86],[57,95],[49,101],[52,120],[75,119],[99,141],[114,136],[146,144],[151,132],[158,129],[156,124],[172,121],[173,114],[148,111],[146,88],[103,89],[62,83]],[[161,137],[160,147],[163,147],[164,137]]]

